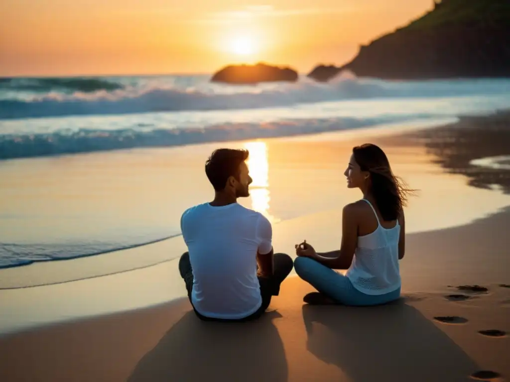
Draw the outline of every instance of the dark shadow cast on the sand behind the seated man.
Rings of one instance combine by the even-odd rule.
[[[284,345],[272,323],[278,317],[273,311],[253,322],[203,322],[188,312],[128,381],[287,381]]]

